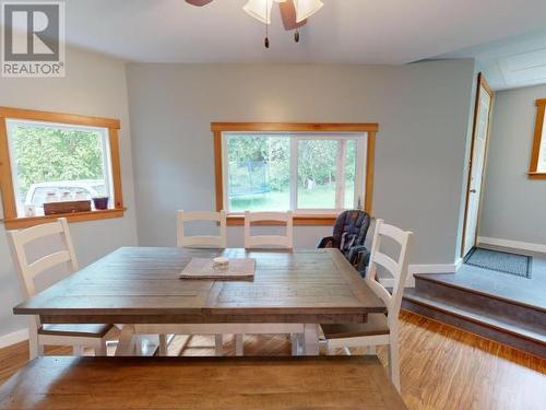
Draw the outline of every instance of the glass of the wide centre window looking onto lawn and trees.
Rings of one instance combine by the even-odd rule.
[[[225,208],[332,212],[363,198],[358,138],[366,134],[224,134]],[[364,174],[364,173],[360,173]]]

